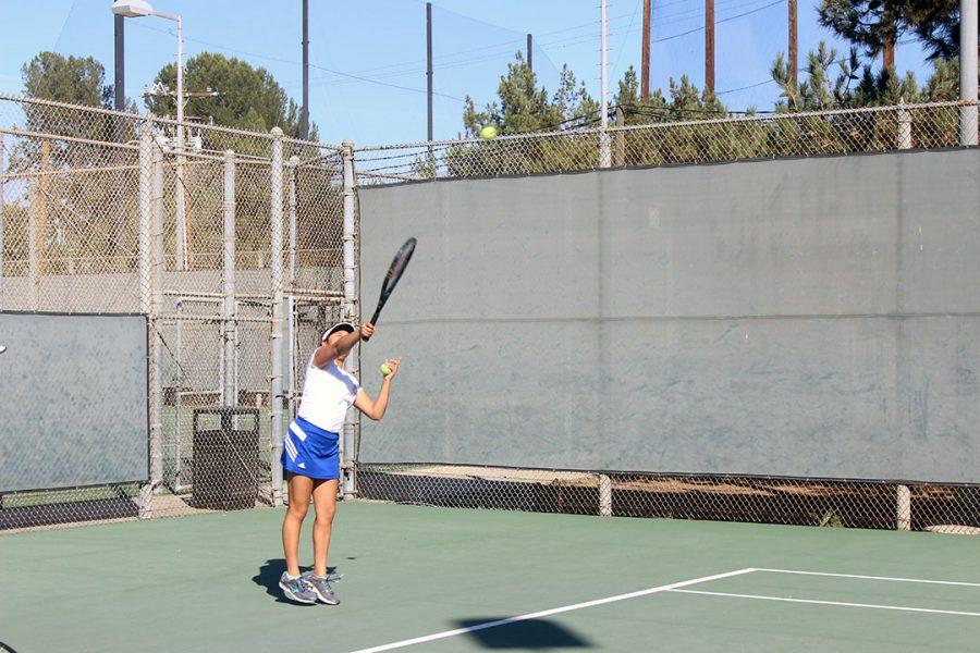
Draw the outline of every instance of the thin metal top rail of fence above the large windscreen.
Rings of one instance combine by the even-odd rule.
[[[853,115],[853,114],[863,114],[863,113],[887,113],[895,111],[918,111],[923,109],[940,109],[940,108],[952,108],[952,107],[970,107],[980,104],[978,101],[970,100],[948,100],[943,102],[921,102],[916,104],[887,104],[883,107],[859,107],[854,109],[829,109],[821,111],[798,111],[798,112],[785,112],[785,113],[761,113],[756,115],[740,115],[740,116],[722,116],[722,118],[710,118],[705,120],[685,120],[685,121],[675,121],[675,122],[658,122],[658,123],[644,123],[638,125],[623,125],[615,127],[607,127],[604,132],[607,134],[615,134],[620,132],[635,132],[635,131],[651,131],[651,130],[671,130],[675,127],[686,127],[686,126],[705,126],[705,125],[718,125],[718,124],[739,124],[739,123],[765,123],[765,122],[775,122],[775,121],[796,121],[808,118],[833,118],[840,115]],[[558,132],[532,132],[528,134],[512,134],[507,136],[497,136],[492,139],[492,141],[501,141],[501,140],[534,140],[540,138],[567,138],[573,136],[588,136],[588,135],[598,135],[603,132],[602,127],[578,127],[574,130],[562,130]],[[449,147],[454,145],[476,145],[481,143],[488,143],[486,138],[455,138],[449,140],[419,140],[414,143],[401,143],[401,144],[392,144],[392,145],[363,145],[355,146],[354,151],[356,152],[368,152],[368,151],[383,151],[383,150],[399,150],[399,149],[422,149],[422,148],[439,148],[439,147]]]

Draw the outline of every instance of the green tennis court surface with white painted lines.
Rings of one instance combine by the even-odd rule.
[[[339,506],[341,605],[286,603],[282,512],[0,538],[34,651],[975,651],[975,538]],[[308,531],[302,559],[309,558]]]

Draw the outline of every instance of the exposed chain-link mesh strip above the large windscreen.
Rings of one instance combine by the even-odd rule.
[[[960,114],[971,109],[976,102],[932,102],[367,146],[357,148],[357,173],[362,184],[391,184],[936,149],[960,144]]]

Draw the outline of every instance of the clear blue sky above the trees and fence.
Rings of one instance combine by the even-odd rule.
[[[840,50],[817,23],[819,0],[799,2],[800,66],[821,40]],[[0,93],[22,91],[20,69],[34,54],[91,56],[112,82],[110,0],[0,0]],[[286,91],[302,95],[301,0],[154,0],[183,17],[185,57],[200,51],[237,57],[269,70]],[[639,69],[642,0],[609,0],[609,89],[629,65]],[[703,84],[703,1],[653,0],[652,88],[687,74]],[[463,98],[494,99],[500,76],[535,37],[539,83],[554,90],[565,63],[597,99],[599,0],[434,0],[434,137],[462,128]],[[771,109],[779,88],[769,69],[786,48],[786,0],[715,0],[715,88],[730,109]],[[320,138],[358,144],[426,138],[426,7],[421,0],[310,0],[310,116]],[[901,42],[899,71],[920,82],[930,65],[918,44]],[[176,52],[174,23],[126,21],[126,95],[136,98]],[[221,89],[217,89],[221,90]],[[138,101],[140,108],[142,101]]]

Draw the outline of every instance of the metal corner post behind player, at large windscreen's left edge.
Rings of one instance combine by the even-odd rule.
[[[357,304],[357,260],[355,247],[355,198],[357,188],[354,181],[354,141],[344,140],[342,157],[344,161],[344,318],[355,323],[359,321]],[[347,356],[347,371],[355,377],[360,373],[360,347],[356,356]],[[360,414],[354,412],[344,424],[343,442],[343,494],[352,498],[356,491],[356,451],[360,436]]]

